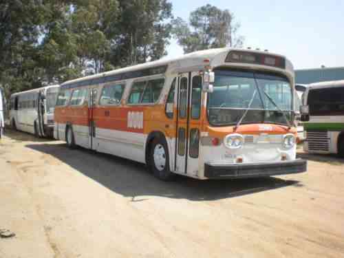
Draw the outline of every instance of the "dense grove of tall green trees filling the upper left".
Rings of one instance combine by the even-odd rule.
[[[168,0],[2,0],[0,86],[7,94],[161,58]]]

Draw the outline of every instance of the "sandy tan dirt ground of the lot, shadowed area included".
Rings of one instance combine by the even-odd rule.
[[[300,151],[301,152],[301,151]],[[161,182],[135,162],[7,131],[0,257],[344,257],[344,160],[279,178]]]

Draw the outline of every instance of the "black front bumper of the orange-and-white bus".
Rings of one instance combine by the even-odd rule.
[[[275,163],[204,164],[204,176],[209,179],[259,178],[305,171],[307,171],[307,161],[301,159]]]

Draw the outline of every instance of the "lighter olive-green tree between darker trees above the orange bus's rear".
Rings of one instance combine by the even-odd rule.
[[[111,68],[109,56],[111,40],[118,33],[118,1],[80,1],[72,14],[72,32],[76,39],[78,65],[85,74]]]

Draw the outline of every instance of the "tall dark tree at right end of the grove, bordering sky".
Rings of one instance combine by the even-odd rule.
[[[166,54],[171,38],[172,4],[167,0],[119,0],[119,33],[111,41],[109,62],[123,67]]]

